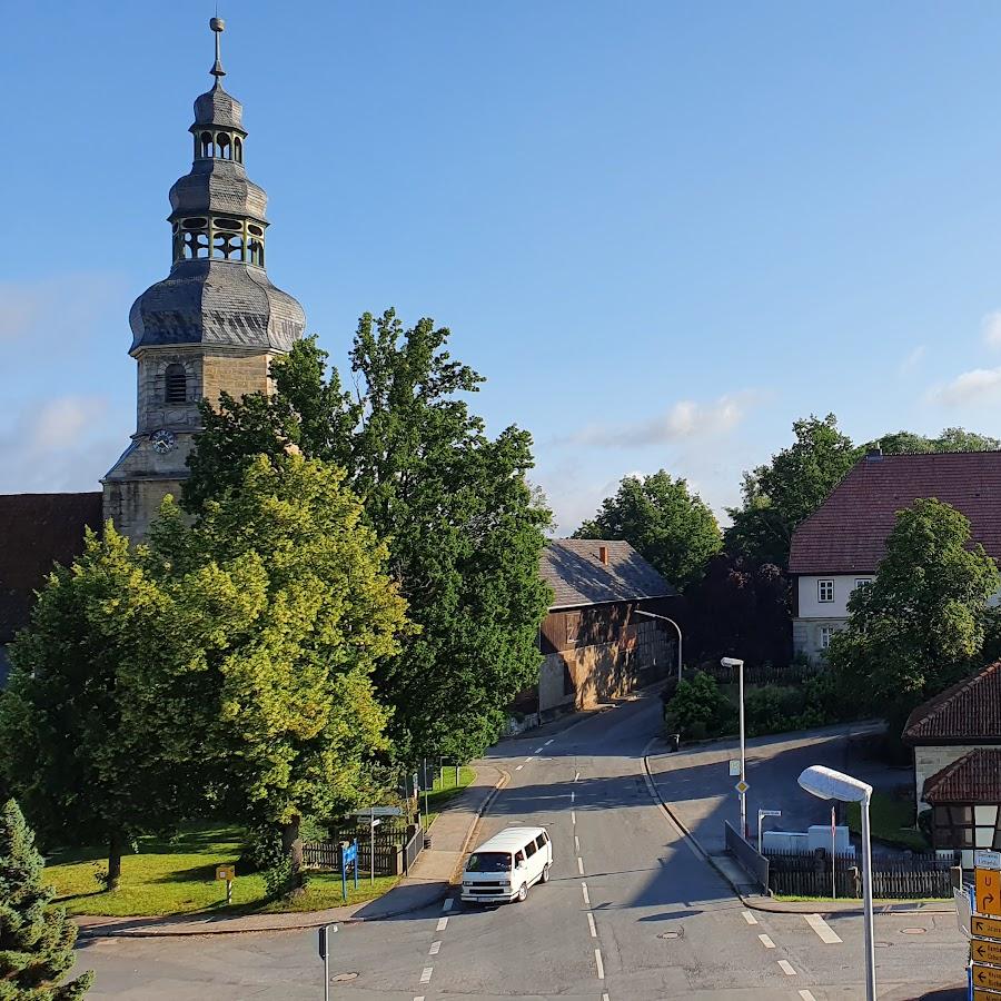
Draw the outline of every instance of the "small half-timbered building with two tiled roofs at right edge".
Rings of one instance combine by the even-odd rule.
[[[1001,662],[918,706],[903,739],[914,749],[919,810],[932,809],[935,850],[972,869],[977,849],[1001,849]]]

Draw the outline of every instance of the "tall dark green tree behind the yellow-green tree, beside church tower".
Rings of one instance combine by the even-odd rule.
[[[202,406],[185,504],[197,513],[257,455],[289,449],[347,470],[365,519],[389,542],[389,569],[417,625],[376,665],[396,753],[467,757],[496,736],[505,707],[537,676],[538,574],[548,512],[526,482],[531,436],[485,433],[464,395],[483,381],[450,358],[448,330],[361,317],[353,392],[314,339],[271,367],[276,393]]]

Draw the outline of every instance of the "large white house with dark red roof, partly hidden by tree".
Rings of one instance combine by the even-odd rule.
[[[793,650],[823,656],[848,623],[848,599],[875,577],[896,512],[935,497],[970,519],[974,543],[1001,561],[1001,452],[870,452],[793,533]]]

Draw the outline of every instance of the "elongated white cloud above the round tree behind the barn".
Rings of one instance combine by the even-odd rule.
[[[744,420],[755,398],[752,393],[734,393],[710,404],[683,399],[657,417],[612,426],[591,425],[563,442],[594,448],[626,448],[725,435]]]

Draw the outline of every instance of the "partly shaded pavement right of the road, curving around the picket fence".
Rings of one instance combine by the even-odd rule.
[[[795,793],[799,770],[804,766],[804,762],[812,763],[821,749],[836,754],[841,750],[838,745],[845,742],[849,736],[872,732],[873,729],[873,724],[856,723],[747,741],[749,763],[756,761],[760,766],[770,761],[773,765],[777,765],[774,769],[775,774],[769,775],[766,781],[762,781],[765,776],[761,771],[749,769],[749,784],[759,790],[764,786],[770,790],[770,796],[782,803],[783,822],[790,816],[795,819],[799,811],[789,810],[787,800],[779,800],[780,790],[789,789]],[[753,910],[780,914],[861,914],[862,904],[858,900],[780,901],[763,894],[759,884],[725,851],[723,820],[725,817],[735,823],[733,814],[736,800],[733,791],[735,780],[730,777],[726,762],[734,755],[736,749],[737,744],[732,739],[707,742],[676,753],[667,752],[664,741],[660,737],[651,741],[647,746],[644,765],[651,791],[696,855],[712,865],[743,904]],[[786,772],[789,774],[785,774]],[[804,801],[800,809],[804,806],[810,809],[812,805],[809,801]],[[823,807],[823,804],[821,805]],[[752,813],[749,802],[749,816]],[[802,822],[815,821],[805,817]],[[797,830],[795,823],[790,827]],[[802,830],[802,826],[799,830]],[[879,914],[952,913],[954,910],[952,901],[949,900],[896,900],[876,902],[873,905],[873,911]]]

